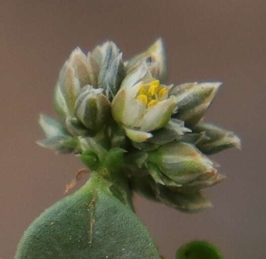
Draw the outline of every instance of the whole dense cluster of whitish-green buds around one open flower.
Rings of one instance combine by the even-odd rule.
[[[200,190],[225,178],[206,155],[240,140],[202,121],[221,83],[168,85],[165,60],[160,39],[128,61],[112,41],[87,55],[77,48],[56,85],[62,120],[41,115],[38,144],[74,153],[93,171],[122,170],[132,189],[195,211],[210,205]]]

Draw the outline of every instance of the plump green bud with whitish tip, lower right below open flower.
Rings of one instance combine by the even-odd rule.
[[[148,152],[147,167],[162,185],[181,187],[206,174],[216,174],[213,163],[195,146],[172,142]]]

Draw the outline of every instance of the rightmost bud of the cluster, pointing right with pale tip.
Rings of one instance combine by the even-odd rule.
[[[206,122],[199,122],[193,127],[195,133],[205,133],[205,138],[197,142],[197,147],[204,154],[214,154],[228,148],[241,148],[240,139],[233,133]]]

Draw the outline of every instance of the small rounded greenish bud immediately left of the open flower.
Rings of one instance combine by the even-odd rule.
[[[110,119],[110,103],[103,89],[86,85],[75,102],[75,116],[90,130],[99,131]]]

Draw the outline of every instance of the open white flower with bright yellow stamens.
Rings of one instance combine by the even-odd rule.
[[[129,139],[144,142],[168,123],[177,103],[170,89],[152,77],[146,62],[124,78],[112,101],[112,115]]]

